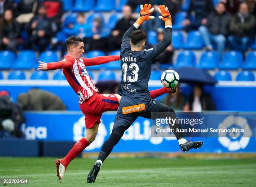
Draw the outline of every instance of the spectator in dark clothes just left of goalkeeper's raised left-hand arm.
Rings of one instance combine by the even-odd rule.
[[[108,48],[110,51],[120,50],[124,33],[136,21],[131,17],[132,10],[130,6],[124,5],[122,8],[122,13],[123,18],[118,20],[108,40]]]

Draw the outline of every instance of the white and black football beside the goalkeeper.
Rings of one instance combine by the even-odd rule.
[[[179,74],[174,70],[166,70],[161,75],[161,82],[166,88],[174,90],[179,84]]]

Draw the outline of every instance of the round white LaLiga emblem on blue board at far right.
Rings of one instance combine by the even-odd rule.
[[[250,141],[249,137],[252,135],[247,120],[241,116],[235,117],[230,115],[219,124],[218,129],[229,129],[231,126],[237,126],[238,129],[244,129],[244,133],[241,135],[240,133],[232,134],[230,132],[230,138],[227,137],[226,133],[219,133],[219,136],[221,136],[221,138],[218,138],[220,144],[228,148],[228,151],[237,151],[246,148]]]

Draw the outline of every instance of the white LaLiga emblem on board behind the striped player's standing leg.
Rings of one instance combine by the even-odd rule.
[[[86,129],[84,125],[84,116],[82,116],[77,122],[74,123],[73,134],[74,134],[73,139],[75,142],[77,142],[79,139],[82,139],[82,137],[85,136]],[[88,147],[86,147],[86,150],[90,151],[90,150],[102,147],[105,140],[105,136],[107,135],[108,135],[108,132],[107,132],[107,129],[105,128],[105,125],[100,123],[99,130],[94,142],[92,142]]]

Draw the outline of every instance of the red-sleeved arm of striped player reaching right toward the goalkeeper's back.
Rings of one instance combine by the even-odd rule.
[[[82,58],[84,61],[85,66],[95,66],[100,65],[102,63],[108,63],[112,61],[119,61],[120,56],[113,55],[113,56],[97,56],[94,58]]]

